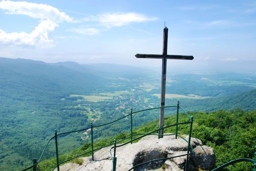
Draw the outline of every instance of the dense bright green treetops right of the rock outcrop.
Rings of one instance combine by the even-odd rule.
[[[215,151],[216,166],[238,158],[254,159],[256,145],[256,111],[218,110],[210,113],[193,112],[192,136]],[[239,163],[230,171],[251,171],[252,164]]]

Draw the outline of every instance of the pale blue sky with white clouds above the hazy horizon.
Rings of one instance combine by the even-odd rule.
[[[0,57],[47,63],[113,63],[175,72],[256,73],[256,0],[0,1]]]

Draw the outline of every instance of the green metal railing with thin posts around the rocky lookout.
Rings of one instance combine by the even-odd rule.
[[[147,111],[147,110],[160,109],[160,108],[171,108],[171,107],[176,107],[176,110],[177,110],[177,112],[176,112],[176,123],[175,123],[175,124],[173,124],[173,125],[168,125],[168,126],[165,126],[165,127],[163,127],[163,128],[158,128],[158,129],[156,129],[156,130],[154,130],[154,131],[151,131],[151,132],[148,132],[148,133],[133,134],[133,115],[134,115],[134,114],[139,113],[139,112],[143,112],[143,111]],[[190,121],[179,123],[179,109],[181,109],[181,110],[183,111],[183,114],[185,114],[185,115],[190,119]],[[94,149],[94,148],[93,148],[93,128],[107,126],[107,125],[116,123],[116,122],[119,121],[119,120],[125,119],[125,118],[127,118],[127,117],[130,117],[130,118],[131,118],[131,127],[130,127],[130,128],[131,128],[131,130],[130,130],[131,136],[128,136],[128,137],[126,137],[126,138],[124,138],[124,139],[122,139],[122,140],[119,140],[119,141],[114,140],[114,143],[111,143],[111,144],[102,146],[102,147],[97,148],[97,149]],[[181,135],[178,134],[178,126],[179,126],[179,125],[185,125],[185,124],[189,124],[189,125],[190,125],[190,127],[189,127],[189,136],[188,136],[188,140],[186,140],[184,137],[182,137]],[[130,112],[129,114],[127,114],[127,115],[125,115],[125,116],[123,116],[123,117],[121,117],[121,118],[119,118],[119,119],[117,119],[117,120],[115,120],[115,121],[112,121],[112,122],[109,122],[109,123],[106,123],[106,124],[102,124],[102,125],[98,125],[98,126],[93,126],[93,122],[91,122],[91,126],[88,127],[88,128],[84,128],[84,129],[80,129],[80,130],[73,130],[73,131],[63,132],[63,133],[57,133],[57,130],[55,129],[55,130],[54,130],[54,136],[51,137],[51,138],[48,140],[48,142],[47,142],[47,144],[46,144],[46,146],[45,146],[45,148],[44,148],[44,150],[43,150],[43,152],[42,152],[40,158],[39,158],[38,160],[37,160],[37,159],[33,159],[33,165],[29,166],[28,168],[23,169],[22,171],[28,171],[28,170],[30,170],[30,169],[33,169],[33,171],[37,171],[38,163],[39,163],[40,160],[42,159],[42,156],[43,156],[43,154],[45,153],[45,151],[46,151],[46,149],[47,149],[47,147],[48,147],[49,142],[50,142],[51,140],[53,140],[53,139],[55,140],[56,166],[52,169],[52,171],[55,170],[56,168],[57,168],[57,171],[60,171],[60,165],[61,165],[61,164],[64,164],[64,163],[66,163],[66,162],[69,162],[70,160],[73,160],[73,159],[75,159],[75,158],[78,158],[78,157],[81,157],[81,156],[84,156],[84,155],[88,155],[88,154],[90,154],[90,153],[91,153],[91,155],[92,155],[92,160],[94,160],[94,157],[93,157],[93,156],[94,156],[94,151],[100,150],[100,149],[102,149],[102,148],[109,147],[109,146],[113,146],[113,147],[110,149],[110,154],[111,154],[112,161],[113,161],[113,171],[116,171],[116,162],[117,162],[117,158],[116,158],[116,148],[121,147],[121,146],[124,146],[124,145],[129,144],[129,143],[132,144],[133,141],[136,141],[136,140],[138,140],[138,139],[140,139],[140,138],[142,138],[142,137],[144,137],[144,136],[147,136],[147,135],[158,135],[158,136],[159,136],[160,134],[159,134],[159,133],[155,133],[155,132],[159,132],[159,130],[161,130],[161,129],[170,128],[170,127],[175,127],[175,128],[176,128],[176,129],[175,129],[175,133],[174,133],[174,134],[162,134],[162,135],[163,135],[163,136],[175,135],[175,138],[176,138],[176,139],[177,139],[178,137],[182,138],[184,141],[187,142],[187,153],[186,153],[186,154],[183,154],[183,155],[179,155],[179,156],[161,158],[161,159],[156,159],[156,160],[152,160],[152,161],[147,161],[147,162],[144,162],[144,163],[140,163],[140,164],[134,166],[133,168],[131,168],[129,171],[131,171],[131,170],[133,170],[134,168],[136,168],[136,167],[138,167],[138,166],[141,166],[141,165],[143,165],[143,164],[147,164],[147,163],[155,162],[155,161],[160,161],[160,160],[171,159],[171,158],[180,157],[180,156],[185,156],[185,155],[186,155],[185,170],[187,170],[189,155],[193,152],[192,146],[191,146],[191,143],[190,143],[190,142],[191,142],[192,124],[193,124],[193,117],[190,116],[190,115],[184,110],[184,108],[182,108],[182,107],[179,106],[179,101],[178,101],[177,106],[155,107],[155,108],[148,108],[148,109],[143,109],[143,110],[135,111],[135,112],[133,112],[133,110],[131,109],[131,112]],[[77,155],[77,156],[74,156],[74,157],[72,157],[72,158],[70,158],[70,159],[67,159],[67,160],[65,160],[65,161],[60,162],[60,161],[59,161],[59,150],[58,150],[58,136],[60,136],[60,135],[68,135],[68,134],[70,134],[70,133],[81,132],[81,131],[85,131],[85,130],[89,130],[89,129],[91,130],[91,150],[90,150],[90,151],[87,151],[87,152],[84,152],[84,153],[82,153],[82,154],[79,154],[79,155]],[[137,137],[137,136],[139,136],[139,137]],[[134,137],[136,137],[136,138],[134,138]],[[123,142],[123,141],[125,141],[125,140],[127,140],[127,139],[130,139],[130,141],[125,142],[125,143],[122,144],[122,145],[116,145],[117,143]],[[114,149],[114,156],[112,155],[112,152],[111,152],[112,149]],[[254,162],[254,169],[256,168],[256,159],[255,159],[255,161],[253,161],[252,159],[246,159],[246,160],[245,160],[245,159],[238,159],[238,160],[235,160],[235,161],[231,161],[231,162],[229,162],[229,163],[227,163],[227,164],[231,165],[231,164],[233,164],[234,162],[236,163],[236,162],[239,162],[239,161],[242,161],[242,160],[243,160],[243,161],[247,161],[247,162],[252,162],[252,163]],[[228,166],[227,164],[225,164],[225,166],[222,165],[222,166],[220,166],[219,168],[216,168],[216,169],[213,170],[213,171],[218,171],[218,170],[220,170],[221,168],[224,168],[224,167]],[[256,171],[256,169],[255,169],[254,171]]]

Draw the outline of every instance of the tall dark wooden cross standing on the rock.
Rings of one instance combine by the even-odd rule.
[[[163,29],[163,55],[154,55],[154,54],[136,54],[135,55],[136,58],[162,59],[161,111],[160,111],[160,117],[159,117],[159,128],[163,128],[167,59],[175,59],[175,60],[193,60],[194,59],[193,56],[167,55],[167,40],[168,40],[168,28],[164,27],[164,29]],[[159,130],[159,138],[163,138],[163,129]]]

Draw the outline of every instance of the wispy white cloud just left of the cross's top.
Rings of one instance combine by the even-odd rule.
[[[99,15],[97,20],[106,27],[123,26],[132,22],[155,21],[158,18],[148,18],[137,13],[108,13]]]

